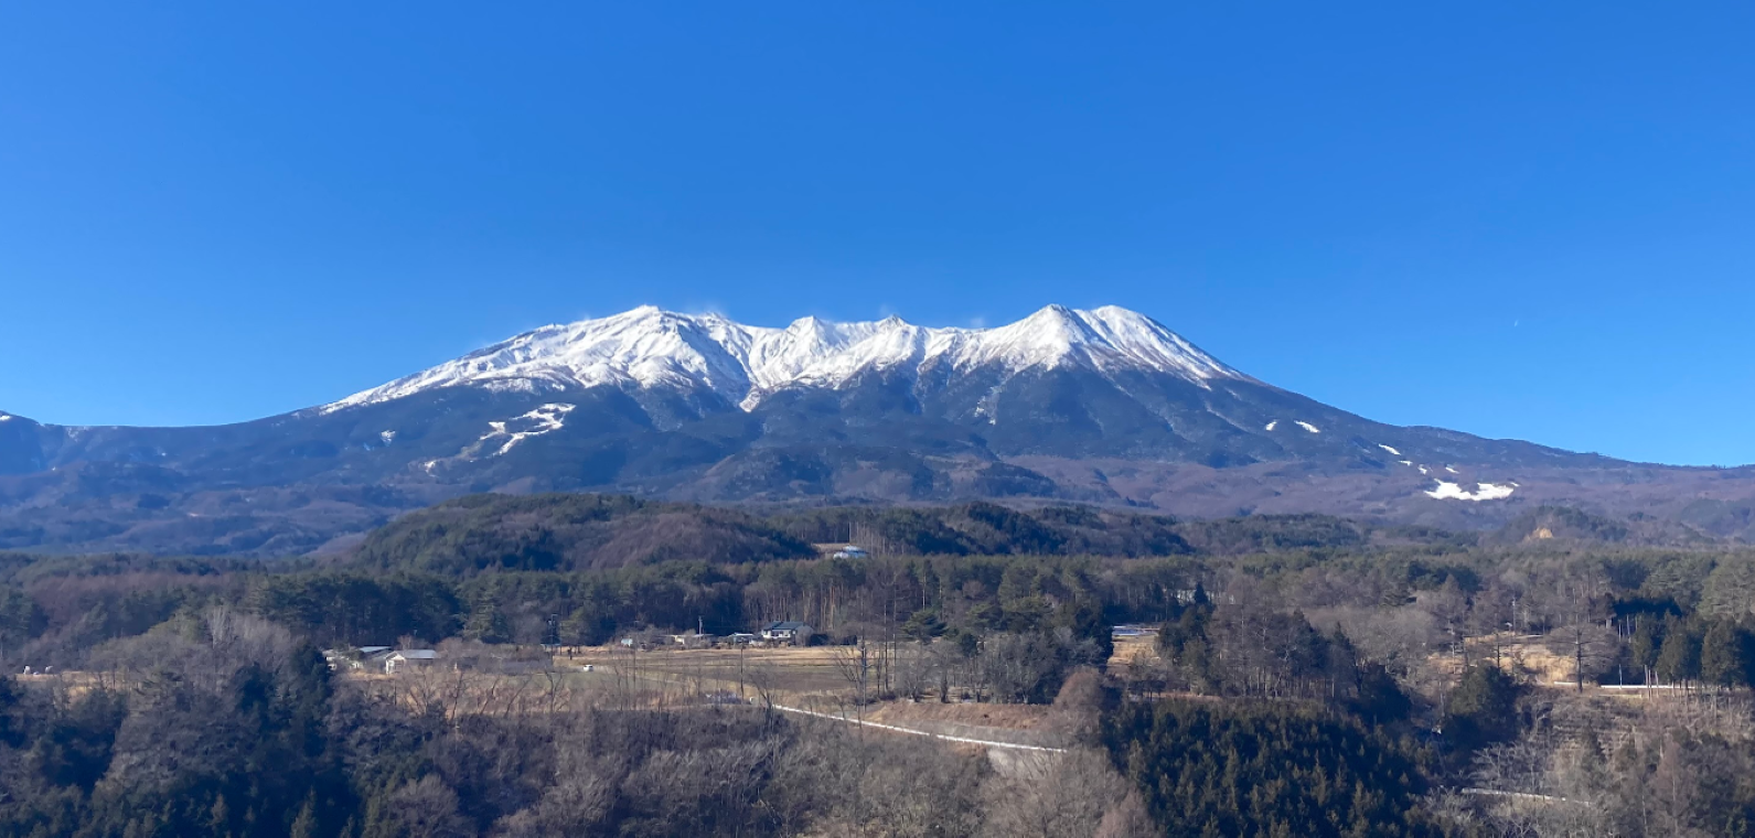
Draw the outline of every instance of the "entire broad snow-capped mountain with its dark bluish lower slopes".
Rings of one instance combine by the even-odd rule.
[[[993,330],[751,328],[639,309],[333,405],[214,428],[0,414],[0,549],[309,552],[474,491],[697,501],[1076,500],[1501,526],[1544,501],[1743,536],[1748,470],[1397,428],[1121,309]]]

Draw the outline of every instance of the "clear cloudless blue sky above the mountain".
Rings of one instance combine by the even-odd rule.
[[[226,423],[641,303],[1143,310],[1755,461],[1750,4],[7,4],[0,408]]]

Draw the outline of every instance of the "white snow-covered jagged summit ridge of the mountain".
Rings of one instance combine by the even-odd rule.
[[[781,387],[839,387],[869,370],[918,375],[941,366],[951,372],[999,366],[1016,373],[1065,365],[1104,375],[1160,372],[1202,387],[1209,379],[1250,380],[1151,317],[1113,305],[1093,310],[1049,305],[986,330],[927,328],[900,317],[876,323],[804,317],[786,328],[763,328],[718,314],[641,307],[526,331],[321,410],[455,386],[542,393],[605,384],[707,387],[748,410]]]

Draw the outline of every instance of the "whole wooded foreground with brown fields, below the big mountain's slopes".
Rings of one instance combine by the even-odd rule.
[[[0,831],[1751,834],[1755,554],[1546,515],[1476,543],[534,496],[326,561],[4,554]],[[848,529],[883,552],[816,557]],[[781,619],[814,670],[725,645]],[[376,645],[448,666],[349,663]],[[1069,750],[990,763],[776,691],[1042,707]]]

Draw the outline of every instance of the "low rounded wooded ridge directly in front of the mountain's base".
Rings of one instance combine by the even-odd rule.
[[[1093,507],[828,507],[737,510],[621,494],[472,494],[404,515],[340,561],[351,566],[479,573],[605,570],[662,561],[711,565],[814,557],[858,543],[878,556],[1237,556],[1288,549],[1423,543],[1472,535],[1385,528],[1329,515],[1176,521]]]

